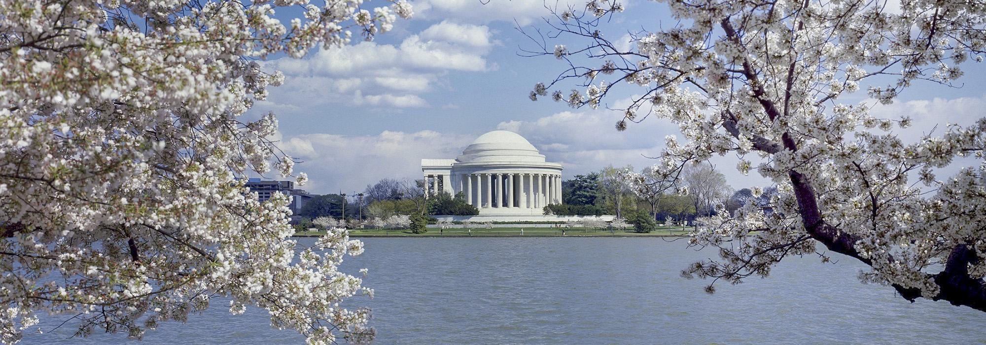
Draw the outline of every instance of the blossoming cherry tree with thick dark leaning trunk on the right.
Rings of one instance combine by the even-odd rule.
[[[600,32],[623,10],[615,0],[557,11],[549,31],[528,31],[536,44],[530,55],[566,65],[530,98],[550,94],[595,108],[629,88],[636,96],[614,108],[621,114],[617,129],[654,116],[677,124],[685,139],[666,138],[656,169],[667,178],[713,155],[731,155],[740,157],[741,173],[755,169],[777,183],[772,213],[747,203],[734,215],[702,220],[690,243],[719,247],[721,259],[697,262],[686,276],[711,278],[713,292],[719,280],[766,276],[787,255],[817,252],[828,260],[835,252],[872,267],[862,280],[892,286],[908,301],[986,311],[986,164],[936,175],[958,157],[983,161],[986,119],[904,142],[893,131],[910,118],[870,112],[915,83],[950,87],[962,63],[981,61],[986,7],[929,0],[899,7],[884,0],[660,2],[675,24],[631,33],[629,48]],[[570,85],[570,93],[558,90]],[[861,89],[868,101],[845,100]]]

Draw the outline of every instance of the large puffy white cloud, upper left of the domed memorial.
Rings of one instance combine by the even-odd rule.
[[[285,75],[285,84],[271,89],[271,99],[282,104],[424,107],[430,104],[422,96],[449,72],[495,70],[486,55],[497,44],[485,26],[443,21],[396,45],[364,41],[265,67]]]

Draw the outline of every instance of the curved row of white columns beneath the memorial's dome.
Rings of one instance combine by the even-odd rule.
[[[458,190],[477,208],[542,208],[561,203],[561,174],[464,173]]]

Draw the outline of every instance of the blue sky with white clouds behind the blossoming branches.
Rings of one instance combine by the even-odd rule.
[[[584,2],[559,2],[576,6]],[[549,3],[555,6],[555,3]],[[631,0],[603,33],[629,44],[630,32],[668,28],[674,22],[664,5]],[[366,5],[366,4],[365,4]],[[414,1],[414,17],[373,42],[314,50],[304,59],[265,62],[280,69],[285,85],[272,88],[247,116],[274,111],[280,123],[281,148],[304,161],[296,171],[309,173],[304,187],[314,193],[353,192],[384,177],[420,177],[423,158],[451,159],[475,137],[495,129],[516,131],[551,162],[565,166],[564,178],[607,165],[654,164],[666,135],[677,133],[666,120],[648,119],[617,132],[617,111],[573,109],[551,101],[531,102],[537,82],[549,82],[565,65],[553,57],[519,56],[534,48],[517,31],[548,31],[540,18],[549,16],[541,0]],[[369,3],[367,8],[372,8]],[[285,23],[297,14],[282,11]],[[572,43],[549,40],[556,43]],[[971,123],[984,115],[986,80],[983,64],[963,65],[959,89],[918,84],[895,104],[876,109],[887,117],[911,114],[916,137],[936,123]],[[570,89],[570,88],[568,88]],[[568,90],[562,89],[562,90]],[[863,92],[844,102],[866,98]],[[643,89],[624,86],[606,102]],[[713,160],[734,188],[764,185],[756,173],[741,175],[736,158]],[[270,177],[276,177],[271,175]]]

